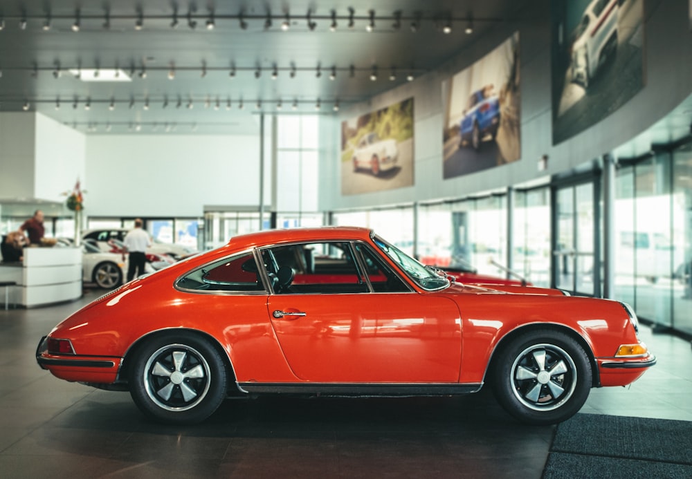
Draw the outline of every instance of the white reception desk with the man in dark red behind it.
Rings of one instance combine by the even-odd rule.
[[[22,263],[0,264],[0,282],[15,281],[9,303],[33,308],[82,297],[82,250],[75,247],[24,248]],[[4,297],[3,297],[4,301]]]

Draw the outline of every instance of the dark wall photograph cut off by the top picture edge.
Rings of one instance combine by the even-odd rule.
[[[643,0],[556,0],[553,144],[603,120],[644,87]]]

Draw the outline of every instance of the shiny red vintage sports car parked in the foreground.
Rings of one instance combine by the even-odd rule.
[[[453,395],[489,384],[559,422],[655,357],[626,304],[455,283],[369,229],[237,236],[131,281],[41,339],[53,375],[128,390],[149,417],[206,419],[229,395]]]

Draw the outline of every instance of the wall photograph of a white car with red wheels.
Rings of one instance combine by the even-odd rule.
[[[341,193],[413,185],[413,98],[341,122]]]

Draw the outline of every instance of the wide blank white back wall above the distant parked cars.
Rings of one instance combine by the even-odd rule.
[[[88,135],[86,214],[201,216],[258,205],[259,135]]]

